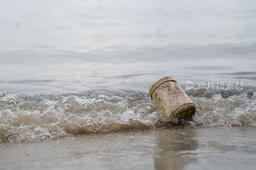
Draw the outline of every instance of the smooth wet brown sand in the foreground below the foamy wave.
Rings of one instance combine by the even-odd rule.
[[[254,169],[255,137],[255,127],[171,127],[1,143],[0,169]]]

